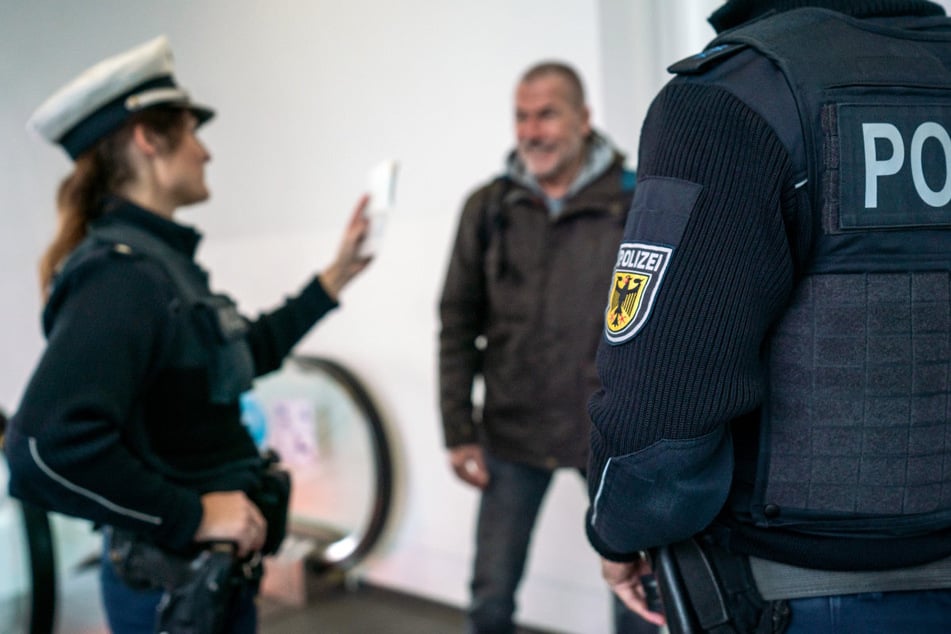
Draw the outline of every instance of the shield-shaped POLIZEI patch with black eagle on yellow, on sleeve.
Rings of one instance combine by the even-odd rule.
[[[656,244],[621,244],[604,314],[604,336],[610,343],[623,343],[644,327],[672,252]]]

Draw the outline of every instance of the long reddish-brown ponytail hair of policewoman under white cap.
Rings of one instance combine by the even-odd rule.
[[[86,237],[86,226],[103,213],[103,200],[135,177],[126,153],[132,130],[145,125],[174,150],[185,133],[185,110],[150,108],[129,118],[119,130],[80,155],[56,192],[59,223],[40,257],[40,290],[46,297],[56,270]]]

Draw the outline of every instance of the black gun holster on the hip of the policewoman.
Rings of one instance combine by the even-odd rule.
[[[221,634],[232,603],[262,574],[260,556],[242,561],[227,542],[183,555],[125,531],[113,530],[109,541],[109,560],[124,583],[140,590],[163,590],[157,633]]]

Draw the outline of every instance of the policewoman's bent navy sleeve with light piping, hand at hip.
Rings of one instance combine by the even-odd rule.
[[[6,439],[10,492],[181,548],[201,521],[199,495],[122,442],[171,336],[167,282],[154,265],[111,252],[61,286],[47,311],[47,347]]]

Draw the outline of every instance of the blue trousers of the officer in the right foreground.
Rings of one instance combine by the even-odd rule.
[[[951,590],[869,592],[789,601],[786,634],[947,634]]]

